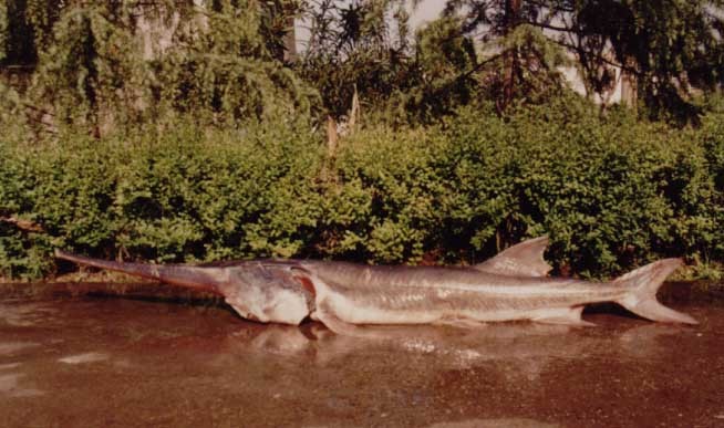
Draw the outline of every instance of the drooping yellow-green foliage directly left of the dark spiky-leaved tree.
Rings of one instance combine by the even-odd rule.
[[[283,66],[279,23],[267,22],[271,17],[254,1],[234,3],[217,2],[197,28],[178,32],[157,64],[159,101],[215,123],[308,115],[314,92]]]

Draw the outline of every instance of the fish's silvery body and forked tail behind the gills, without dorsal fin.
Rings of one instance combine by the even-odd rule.
[[[314,275],[317,311],[312,316],[340,331],[345,330],[345,324],[516,320],[587,325],[581,320],[583,306],[598,302],[618,302],[654,321],[696,323],[655,302],[660,282],[652,286],[651,281],[663,281],[681,264],[678,259],[641,268],[629,281],[609,283],[500,275],[469,268],[301,264]],[[642,302],[648,303],[641,306]]]

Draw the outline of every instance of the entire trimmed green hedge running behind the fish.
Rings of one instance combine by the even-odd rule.
[[[281,121],[0,140],[0,217],[44,229],[0,222],[0,275],[52,272],[54,247],[156,262],[469,263],[542,233],[556,267],[583,275],[724,259],[722,114],[681,131],[570,106],[468,108],[434,127],[370,125],[331,158],[324,146]]]

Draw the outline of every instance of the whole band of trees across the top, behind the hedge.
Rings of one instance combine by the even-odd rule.
[[[342,116],[354,93],[402,122],[487,101],[501,114],[558,96],[571,64],[589,95],[606,101],[625,81],[644,116],[686,124],[724,79],[723,4],[449,0],[413,31],[401,0],[3,0],[0,67],[35,71],[32,122],[94,134],[192,112],[216,124]],[[311,33],[291,66],[294,17]]]

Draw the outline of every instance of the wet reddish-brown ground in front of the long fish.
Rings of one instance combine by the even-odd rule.
[[[676,305],[674,305],[676,306]],[[722,306],[697,327],[260,325],[200,304],[0,299],[2,426],[724,426]]]

